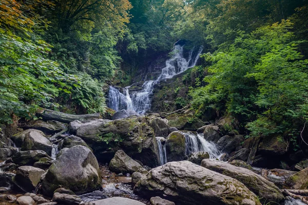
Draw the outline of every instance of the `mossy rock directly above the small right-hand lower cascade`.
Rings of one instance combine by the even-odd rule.
[[[168,125],[170,127],[175,127],[178,130],[190,130],[190,131],[196,131],[198,128],[204,126],[204,122],[196,118],[191,113],[189,114],[170,114],[167,116],[167,119],[169,120]]]

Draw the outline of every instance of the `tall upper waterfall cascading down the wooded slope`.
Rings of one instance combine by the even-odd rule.
[[[198,50],[193,48],[189,52],[188,60],[184,58],[183,47],[184,46],[175,45],[172,50],[173,55],[170,59],[166,60],[166,66],[162,69],[161,74],[156,80],[145,81],[142,85],[141,91],[129,93],[129,86],[123,89],[123,94],[119,90],[110,86],[108,107],[115,111],[128,109],[136,111],[139,114],[144,114],[151,108],[150,97],[153,91],[153,86],[158,84],[163,79],[172,78],[175,75],[183,73],[188,68],[192,68],[196,65],[203,47],[201,46]]]

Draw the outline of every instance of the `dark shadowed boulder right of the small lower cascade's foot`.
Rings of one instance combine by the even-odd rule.
[[[242,141],[244,141],[243,135],[235,135],[235,136],[225,135],[217,141],[217,145],[221,148],[222,152],[230,154],[238,146],[240,146]]]

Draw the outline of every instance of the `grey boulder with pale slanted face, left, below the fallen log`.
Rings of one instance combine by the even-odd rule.
[[[52,145],[49,139],[45,137],[45,134],[40,130],[29,129],[25,135],[22,151],[27,150],[43,150],[47,154],[51,155]]]

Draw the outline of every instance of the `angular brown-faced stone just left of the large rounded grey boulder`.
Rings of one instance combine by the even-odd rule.
[[[26,192],[34,191],[38,182],[41,180],[41,175],[45,171],[31,166],[18,167],[16,175],[13,178],[14,183]]]

